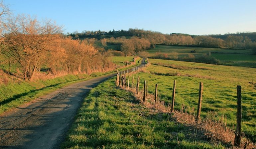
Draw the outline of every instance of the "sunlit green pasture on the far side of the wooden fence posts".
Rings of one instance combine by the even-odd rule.
[[[150,65],[140,75],[146,79],[149,93],[159,84],[160,100],[171,102],[176,80],[175,110],[194,114],[197,109],[199,82],[203,82],[202,117],[224,118],[234,129],[236,124],[236,85],[242,86],[242,131],[256,142],[256,69],[202,63],[149,59]],[[143,86],[140,86],[142,90]],[[211,113],[209,113],[211,112]],[[214,115],[212,115],[212,112]],[[210,116],[211,115],[211,116]]]

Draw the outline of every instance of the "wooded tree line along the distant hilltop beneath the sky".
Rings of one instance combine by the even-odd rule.
[[[131,38],[137,40],[144,40],[143,42],[148,44],[150,47],[154,47],[156,44],[163,45],[182,45],[182,46],[200,46],[200,47],[211,47],[211,48],[237,48],[237,49],[252,49],[256,54],[256,42],[254,36],[256,34],[230,34],[225,35],[225,38],[214,35],[188,35],[188,34],[162,34],[161,32],[149,31],[143,29],[132,29],[128,31],[109,31],[106,34],[102,34],[100,31],[84,32],[77,34],[70,34],[71,37],[76,36],[77,38],[85,37],[89,40],[91,37],[96,40],[106,39],[109,43],[119,44],[118,50],[123,51],[125,55],[128,53],[132,54],[138,52],[141,49],[146,50],[148,48],[137,48],[131,46],[133,43]],[[253,36],[254,35],[254,36]],[[223,35],[224,36],[224,35]],[[137,44],[137,43],[136,43]],[[121,48],[123,46],[123,48]],[[128,50],[127,50],[128,49]]]

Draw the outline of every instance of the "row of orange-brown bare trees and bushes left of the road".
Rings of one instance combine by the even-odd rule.
[[[65,37],[62,27],[52,21],[18,15],[10,17],[4,29],[2,53],[20,66],[19,75],[25,80],[33,80],[41,68],[48,74],[91,74],[115,68],[106,53],[90,44],[93,41]]]

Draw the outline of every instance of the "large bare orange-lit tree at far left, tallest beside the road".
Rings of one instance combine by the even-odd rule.
[[[6,55],[20,64],[25,80],[32,80],[54,41],[60,38],[62,27],[50,20],[39,22],[25,15],[10,17],[4,27]]]

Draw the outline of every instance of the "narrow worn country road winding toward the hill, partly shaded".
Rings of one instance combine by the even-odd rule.
[[[140,66],[143,65],[145,59]],[[115,75],[105,75],[68,85],[2,114],[0,148],[60,148],[86,94],[99,83]]]

